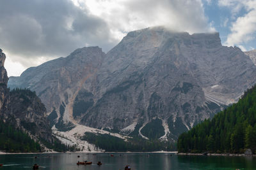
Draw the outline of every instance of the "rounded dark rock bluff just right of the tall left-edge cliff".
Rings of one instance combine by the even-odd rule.
[[[18,127],[26,129],[38,139],[52,141],[52,131],[47,120],[45,106],[35,92],[12,90],[8,114],[13,115]]]

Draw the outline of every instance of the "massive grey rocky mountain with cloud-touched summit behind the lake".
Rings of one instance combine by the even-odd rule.
[[[222,46],[218,33],[152,27],[129,32],[106,54],[84,47],[31,67],[8,86],[35,90],[58,131],[86,125],[175,140],[238,101],[255,81],[252,60]]]

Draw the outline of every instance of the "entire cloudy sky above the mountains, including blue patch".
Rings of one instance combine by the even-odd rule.
[[[129,31],[165,25],[220,32],[223,45],[256,48],[255,0],[0,0],[0,48],[8,76],[76,48],[108,52]]]

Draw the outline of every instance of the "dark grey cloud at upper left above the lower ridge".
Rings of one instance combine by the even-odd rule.
[[[8,0],[0,6],[0,46],[28,67],[86,44],[113,46],[108,25],[68,0]]]

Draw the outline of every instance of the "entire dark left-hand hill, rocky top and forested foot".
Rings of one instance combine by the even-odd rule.
[[[3,144],[0,149],[7,152],[42,152],[45,145],[56,148],[53,143],[60,144],[60,141],[52,136],[45,106],[36,93],[28,89],[10,91],[7,88],[5,59],[0,49],[0,143]]]

